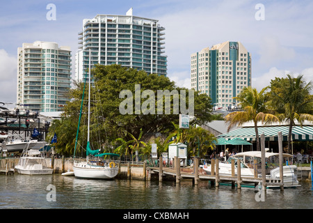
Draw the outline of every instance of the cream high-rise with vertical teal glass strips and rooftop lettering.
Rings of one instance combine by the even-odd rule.
[[[191,54],[191,89],[206,93],[217,107],[236,105],[236,97],[251,86],[251,55],[240,42],[220,43]]]

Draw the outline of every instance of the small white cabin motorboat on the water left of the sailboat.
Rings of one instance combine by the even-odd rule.
[[[48,167],[47,161],[42,153],[38,150],[23,151],[22,157],[19,158],[15,166],[17,173],[26,175],[47,175],[53,174],[53,169]]]

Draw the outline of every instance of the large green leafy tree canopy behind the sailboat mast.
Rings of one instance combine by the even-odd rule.
[[[179,113],[175,110],[174,104],[177,102],[175,101],[175,93],[178,93],[179,105],[183,103],[186,109],[192,105],[192,101],[189,102],[191,91],[176,86],[175,82],[172,82],[168,77],[163,75],[147,75],[143,70],[138,71],[120,65],[97,65],[91,72],[94,82],[92,89],[90,89],[90,106],[91,114],[93,114],[91,116],[90,137],[97,139],[95,141],[99,142],[92,144],[91,146],[93,148],[103,148],[104,151],[112,153],[116,147],[121,145],[117,144],[115,140],[118,138],[130,141],[134,138],[138,139],[140,134],[155,134],[157,132],[170,134],[175,129],[172,123],[179,123],[179,113],[182,111],[182,107],[180,106]],[[140,91],[136,91],[138,90],[138,86]],[[58,153],[65,153],[66,151],[66,154],[70,154],[74,152],[74,141],[79,122],[83,87],[83,82],[77,82],[75,83],[75,88],[69,92],[72,100],[67,102],[64,108],[62,121],[62,123],[67,123],[69,127],[66,129],[68,131],[67,138],[64,138],[64,140],[58,138],[56,146]],[[79,134],[85,137],[85,141],[87,130],[86,116],[88,114],[87,101],[85,102],[86,98],[88,98],[87,88],[88,86],[86,84],[79,127]],[[163,96],[163,108],[161,114],[158,114],[158,102],[160,99],[157,96],[159,91],[165,92],[166,90],[172,93],[170,95],[170,114],[166,113],[166,97],[163,99]],[[121,95],[121,92],[126,92],[126,94]],[[186,93],[186,97],[182,93]],[[210,113],[213,107],[211,105],[211,98],[198,92],[193,93],[193,95],[194,118],[191,121],[191,125],[202,125],[211,121],[214,117]],[[154,100],[150,100],[152,98]],[[125,103],[126,101],[129,103]],[[123,108],[127,109],[129,114],[121,113],[120,107],[123,103],[125,103],[125,107]],[[136,110],[138,103],[141,109],[139,112]],[[147,111],[150,112],[145,114]],[[62,123],[55,121],[51,130],[56,132],[57,135],[64,134],[63,130],[65,128],[63,128]],[[74,127],[76,127],[76,130]],[[53,134],[51,133],[51,135]],[[101,140],[98,138],[101,138]],[[78,144],[78,151],[81,151],[81,148],[86,148],[86,143],[83,139],[79,139]]]

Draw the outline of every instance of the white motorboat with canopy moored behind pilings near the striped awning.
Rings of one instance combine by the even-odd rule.
[[[277,162],[279,153],[269,153],[266,148],[266,162],[267,164]],[[283,157],[291,158],[292,155],[283,153]],[[261,164],[261,151],[249,151],[243,153],[236,153],[228,158],[226,162],[220,161],[218,163],[219,174],[223,176],[232,176],[232,160],[235,160],[234,174],[237,175],[237,160],[241,160],[241,176],[254,177],[253,160],[257,159],[258,165]],[[202,168],[207,174],[211,174],[211,164],[206,164]],[[261,170],[261,167],[258,167]],[[297,180],[297,167],[296,165],[284,166],[283,168],[283,181],[284,187],[294,187],[298,186],[299,182]],[[258,174],[261,177],[261,174]],[[266,166],[266,178],[280,179],[280,168],[279,167],[268,167]]]

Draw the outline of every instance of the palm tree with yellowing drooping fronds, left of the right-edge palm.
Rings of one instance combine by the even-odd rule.
[[[245,87],[237,97],[234,97],[234,99],[239,101],[239,105],[243,111],[232,112],[225,116],[226,123],[230,124],[227,132],[236,125],[242,125],[243,123],[253,121],[257,139],[257,151],[260,151],[257,123],[259,121],[262,121],[262,123],[279,121],[278,117],[270,114],[268,109],[266,109],[266,89],[268,89],[268,86],[257,92],[257,89],[252,88],[251,86]]]

